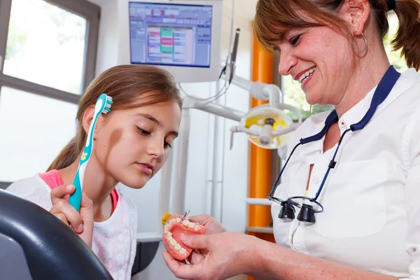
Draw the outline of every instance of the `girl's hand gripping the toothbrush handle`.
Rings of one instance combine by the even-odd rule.
[[[83,192],[80,211],[76,211],[66,200],[66,196],[71,195],[74,190],[75,187],[71,185],[63,185],[51,190],[52,208],[50,213],[66,225],[71,226],[73,231],[92,248],[93,203]]]

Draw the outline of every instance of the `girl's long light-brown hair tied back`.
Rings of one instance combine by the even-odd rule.
[[[165,70],[149,65],[114,66],[94,78],[78,104],[76,137],[71,139],[57,155],[47,171],[62,169],[71,165],[83,151],[87,134],[83,130],[82,119],[85,111],[94,106],[100,94],[112,97],[110,116],[118,109],[131,109],[161,102],[174,101],[182,107],[179,90],[173,77]],[[139,102],[139,97],[148,97]]]

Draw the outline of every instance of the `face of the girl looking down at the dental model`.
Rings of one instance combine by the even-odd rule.
[[[116,111],[111,106],[110,116],[98,120],[94,155],[113,179],[143,188],[165,164],[180,121],[174,101]]]

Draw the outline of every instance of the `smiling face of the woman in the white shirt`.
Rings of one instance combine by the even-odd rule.
[[[301,83],[309,104],[338,104],[353,73],[348,38],[332,27],[290,29],[281,42],[279,73]]]

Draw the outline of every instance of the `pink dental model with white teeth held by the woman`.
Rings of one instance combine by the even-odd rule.
[[[182,235],[202,235],[205,232],[204,225],[198,225],[188,221],[184,217],[169,218],[165,224],[162,235],[163,244],[168,253],[176,260],[185,260],[193,251],[181,241]]]

